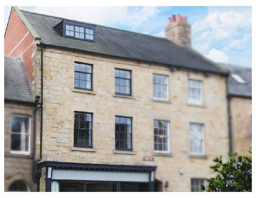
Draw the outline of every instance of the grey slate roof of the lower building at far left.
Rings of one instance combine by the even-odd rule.
[[[4,57],[4,99],[33,102],[21,59]]]

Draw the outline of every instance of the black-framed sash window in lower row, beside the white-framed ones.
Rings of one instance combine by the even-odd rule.
[[[116,116],[116,150],[132,150],[132,118]]]

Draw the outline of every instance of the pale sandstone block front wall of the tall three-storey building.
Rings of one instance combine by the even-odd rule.
[[[222,155],[227,159],[228,116],[223,76],[171,72],[161,65],[50,47],[45,48],[43,59],[42,161],[156,165],[155,178],[169,182],[167,191],[190,191],[190,178],[215,175],[209,168],[213,158]],[[93,91],[74,90],[75,61],[93,65]],[[132,98],[115,96],[115,68],[132,70]],[[37,92],[40,93],[39,50],[36,70]],[[152,100],[153,74],[168,75],[168,103]],[[188,79],[202,80],[202,106],[188,104]],[[91,150],[74,148],[74,111],[93,113]],[[115,152],[115,115],[132,117],[133,152]],[[154,155],[154,119],[170,121],[172,157]],[[190,156],[190,122],[204,124],[206,159]],[[154,157],[154,161],[143,161],[145,156]],[[180,168],[184,170],[182,175]]]

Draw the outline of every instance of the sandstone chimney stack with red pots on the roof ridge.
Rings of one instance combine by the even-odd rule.
[[[172,18],[168,18],[168,25],[165,28],[165,38],[178,45],[191,47],[190,29],[187,16],[182,17],[180,14],[172,15]]]

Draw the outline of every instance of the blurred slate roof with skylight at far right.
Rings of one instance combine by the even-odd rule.
[[[231,64],[219,64],[221,67],[230,70],[228,77],[228,94],[232,96],[252,97],[252,68],[241,67]],[[239,75],[245,83],[238,83],[232,74]]]

